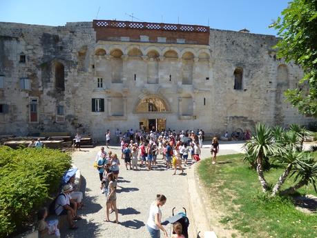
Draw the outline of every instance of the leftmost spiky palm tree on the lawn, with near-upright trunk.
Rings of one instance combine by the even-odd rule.
[[[262,186],[263,192],[267,192],[268,184],[263,174],[263,158],[273,155],[277,146],[275,145],[270,128],[262,123],[256,125],[256,134],[245,143],[244,148],[256,156],[256,172]]]

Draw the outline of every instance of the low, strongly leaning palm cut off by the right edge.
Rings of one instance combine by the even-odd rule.
[[[317,192],[317,162],[311,155],[305,154],[305,156],[305,159],[302,159],[301,161],[298,161],[298,163],[296,163],[296,165],[294,166],[294,170],[291,173],[291,177],[295,175],[294,181],[298,181],[298,183],[283,190],[282,192],[280,192],[280,195],[294,194],[296,190],[308,184],[312,184],[315,191]]]

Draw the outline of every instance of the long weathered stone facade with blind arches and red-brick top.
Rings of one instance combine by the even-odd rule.
[[[206,26],[1,22],[0,134],[307,124],[282,95],[302,70],[276,59],[276,42]]]

